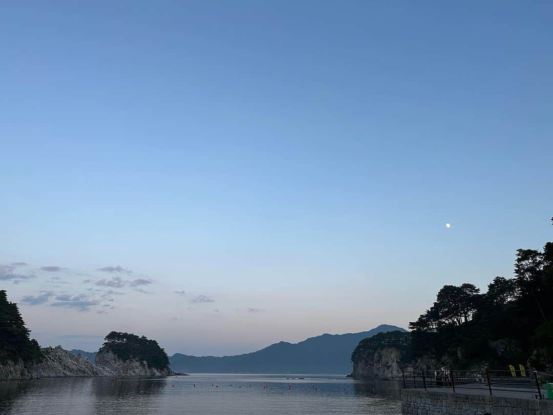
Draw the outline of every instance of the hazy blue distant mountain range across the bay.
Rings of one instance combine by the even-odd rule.
[[[382,324],[369,331],[346,334],[322,334],[299,343],[272,344],[264,349],[236,356],[190,356],[175,353],[169,356],[171,370],[190,373],[311,373],[345,375],[351,373],[351,352],[360,340],[387,331],[406,331],[398,326]],[[91,362],[96,352],[79,349]]]

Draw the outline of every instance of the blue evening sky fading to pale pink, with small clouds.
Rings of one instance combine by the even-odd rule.
[[[0,288],[41,345],[406,328],[553,238],[553,4],[7,2]],[[445,226],[451,224],[450,228]]]

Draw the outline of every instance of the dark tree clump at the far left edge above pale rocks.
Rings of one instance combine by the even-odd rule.
[[[6,290],[0,290],[0,363],[40,359],[40,347],[29,334],[17,304],[8,301]]]

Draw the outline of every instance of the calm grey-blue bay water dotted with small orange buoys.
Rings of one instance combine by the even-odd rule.
[[[49,378],[0,383],[0,412],[397,415],[399,390],[399,382],[322,375],[201,374],[114,382],[106,377]]]

